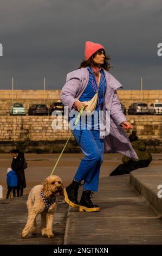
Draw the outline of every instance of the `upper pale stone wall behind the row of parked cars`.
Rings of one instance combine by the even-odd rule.
[[[33,103],[46,103],[49,107],[53,101],[60,100],[61,90],[14,90],[14,102],[24,104],[29,109]],[[162,90],[118,90],[121,102],[126,108],[133,102],[146,102],[148,105],[158,100],[162,102]],[[0,114],[8,114],[12,104],[12,90],[0,90]]]

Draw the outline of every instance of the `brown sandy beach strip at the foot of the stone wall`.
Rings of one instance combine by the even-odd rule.
[[[152,156],[153,160],[150,166],[162,166],[162,154],[152,154]],[[28,168],[25,169],[27,188],[24,189],[24,194],[28,194],[32,187],[41,184],[50,175],[58,157],[59,154],[25,154]],[[83,154],[62,155],[54,174],[61,177],[64,186],[67,186],[73,179],[82,157]],[[111,173],[121,163],[121,158],[122,155],[120,154],[105,154],[100,177],[107,176]],[[1,199],[4,199],[7,193],[6,172],[7,168],[10,167],[11,161],[12,156],[10,154],[0,154],[0,185],[3,186],[3,198]]]

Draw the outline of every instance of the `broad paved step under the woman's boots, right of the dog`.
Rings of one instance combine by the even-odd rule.
[[[100,179],[93,203],[100,212],[69,206],[66,245],[149,245],[162,243],[161,215],[129,183],[129,175]]]

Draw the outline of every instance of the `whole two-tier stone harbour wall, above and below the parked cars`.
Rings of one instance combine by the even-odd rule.
[[[14,90],[14,102],[23,103],[28,109],[33,103],[49,105],[60,100],[61,90]],[[142,102],[162,102],[162,90],[145,90]],[[139,90],[118,90],[121,102],[128,108],[133,102],[141,101]],[[12,91],[0,90],[0,153],[7,153],[12,148],[20,147],[25,152],[59,153],[66,143],[71,130],[54,130],[52,123],[56,117],[47,116],[10,116]],[[3,110],[3,111],[2,111]],[[137,131],[140,139],[146,141],[147,148],[154,153],[162,151],[162,115],[126,115],[128,121]],[[125,131],[127,136],[130,132]],[[80,151],[73,135],[65,152]]]

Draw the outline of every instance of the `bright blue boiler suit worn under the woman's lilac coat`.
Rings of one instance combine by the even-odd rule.
[[[88,70],[89,82],[85,91],[79,98],[80,101],[91,100],[98,88],[92,69],[88,67]],[[103,109],[103,94],[105,95],[105,92],[106,78],[103,70],[101,69],[101,78],[98,88],[99,101],[95,108],[95,110],[98,111],[98,117],[99,110]],[[75,121],[76,117],[70,118],[70,121],[72,121],[72,119],[73,121]],[[82,116],[77,125],[75,126],[75,128],[77,127],[77,129],[73,130],[73,136],[79,144],[81,151],[85,155],[85,157],[83,157],[80,162],[79,168],[77,169],[74,176],[74,180],[84,180],[83,190],[98,191],[100,167],[103,162],[104,154],[104,139],[100,139],[99,118],[97,123],[96,121],[94,122],[94,119],[92,118],[92,127],[90,127],[90,129],[88,129],[89,125],[87,118],[85,122],[86,129],[81,129],[81,120]]]

